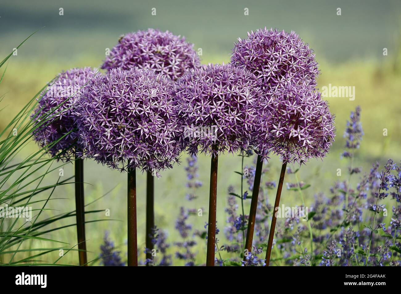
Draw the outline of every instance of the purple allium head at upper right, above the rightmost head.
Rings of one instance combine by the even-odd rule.
[[[293,31],[264,28],[248,33],[235,43],[231,63],[254,73],[268,93],[288,84],[314,88],[319,74],[314,51]]]

